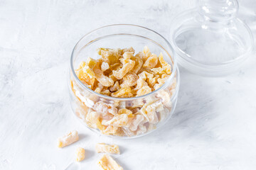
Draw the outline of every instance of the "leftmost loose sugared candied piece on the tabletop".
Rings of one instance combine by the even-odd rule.
[[[73,130],[63,137],[58,138],[58,147],[65,147],[79,140],[78,131]]]

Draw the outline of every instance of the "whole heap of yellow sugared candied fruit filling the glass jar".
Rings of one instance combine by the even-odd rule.
[[[132,47],[100,48],[98,60],[88,57],[75,74],[88,88],[115,98],[102,98],[83,89],[71,79],[73,93],[78,98],[75,113],[87,126],[105,135],[134,136],[156,128],[156,124],[171,112],[171,96],[176,90],[176,75],[166,88],[159,89],[171,75],[171,65],[163,55],[151,53],[148,47],[134,55]]]

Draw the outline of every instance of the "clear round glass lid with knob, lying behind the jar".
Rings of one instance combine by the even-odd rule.
[[[171,23],[178,64],[196,74],[218,77],[239,69],[252,51],[250,28],[236,18],[236,0],[198,0]]]

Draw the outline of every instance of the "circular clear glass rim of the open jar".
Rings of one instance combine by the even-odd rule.
[[[117,98],[117,97],[112,97],[112,96],[107,96],[107,95],[104,95],[104,94],[98,94],[97,92],[93,91],[92,89],[88,88],[85,84],[82,83],[82,81],[80,81],[80,79],[78,79],[77,75],[75,74],[75,69],[73,67],[73,58],[74,58],[74,52],[76,50],[76,48],[78,47],[78,44],[85,38],[87,37],[88,35],[90,35],[91,33],[94,33],[95,31],[97,30],[100,30],[102,28],[108,28],[108,27],[113,27],[113,26],[132,26],[134,28],[142,28],[142,29],[145,29],[145,30],[149,30],[150,32],[152,33],[155,33],[156,35],[159,35],[161,38],[163,38],[163,40],[166,42],[166,44],[168,45],[168,47],[171,49],[171,52],[173,53],[173,55],[171,56],[169,54],[169,52],[166,51],[166,53],[169,55],[169,57],[171,57],[171,60],[173,61],[173,70],[171,72],[171,76],[164,82],[164,84],[159,87],[159,89],[156,89],[154,91],[152,91],[151,93],[149,94],[144,94],[142,96],[135,96],[135,97],[130,97],[130,98]],[[96,40],[97,38],[95,38]],[[149,38],[148,38],[149,39]],[[89,43],[92,43],[94,42],[94,40],[90,40]],[[161,46],[161,45],[160,45]],[[164,48],[164,47],[162,47]],[[165,48],[164,48],[165,49]],[[71,68],[71,72],[73,74],[73,76],[75,77],[75,80],[77,80],[79,82],[79,84],[84,87],[85,89],[87,89],[87,91],[90,91],[92,94],[95,94],[97,96],[100,96],[101,98],[106,98],[106,99],[109,99],[109,100],[118,100],[118,101],[129,101],[129,100],[137,100],[137,99],[140,99],[140,98],[146,98],[147,96],[151,96],[153,94],[156,94],[157,91],[161,91],[161,89],[165,89],[166,86],[169,85],[169,83],[171,82],[172,79],[174,79],[175,75],[178,76],[178,81],[179,81],[179,74],[178,74],[178,65],[177,65],[177,62],[175,60],[175,56],[176,56],[176,52],[174,50],[173,47],[171,47],[171,44],[169,43],[168,40],[166,40],[166,38],[164,38],[163,35],[157,33],[156,31],[154,30],[151,30],[149,28],[146,28],[144,26],[137,26],[137,25],[134,25],[134,24],[112,24],[112,25],[107,25],[107,26],[102,26],[100,28],[96,28],[95,30],[91,30],[89,33],[85,34],[84,36],[82,36],[82,38],[80,38],[80,40],[75,44],[75,47],[73,48],[73,51],[72,51],[72,54],[71,54],[71,57],[70,57],[70,68]],[[176,91],[175,91],[176,93]],[[175,95],[173,95],[175,96]],[[171,96],[171,98],[173,98],[173,96]]]

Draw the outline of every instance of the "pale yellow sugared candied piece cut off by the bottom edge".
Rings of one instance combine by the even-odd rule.
[[[117,162],[110,157],[110,155],[104,154],[103,157],[99,160],[98,165],[103,170],[123,170],[122,166],[117,164]]]

